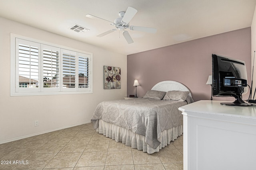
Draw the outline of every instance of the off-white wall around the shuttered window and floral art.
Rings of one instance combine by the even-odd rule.
[[[0,18],[0,144],[89,123],[97,104],[126,96],[127,57]],[[93,53],[93,93],[44,96],[10,96],[10,33]],[[121,89],[104,90],[103,66],[121,67]],[[34,121],[39,126],[34,126]]]

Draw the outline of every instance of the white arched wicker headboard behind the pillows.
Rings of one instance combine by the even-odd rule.
[[[156,85],[154,85],[151,90],[158,90],[162,92],[168,92],[172,90],[189,91],[189,96],[192,97],[190,90],[184,84],[171,80],[159,82]]]

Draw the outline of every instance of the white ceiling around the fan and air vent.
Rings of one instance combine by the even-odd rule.
[[[250,27],[255,5],[256,0],[0,0],[0,16],[129,55]],[[120,31],[96,37],[115,27],[86,14],[114,21],[128,6],[138,10],[130,25],[157,32],[128,30],[132,44]],[[74,24],[90,31],[71,31]]]

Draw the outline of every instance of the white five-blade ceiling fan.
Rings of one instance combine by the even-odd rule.
[[[119,31],[122,31],[122,34],[124,36],[124,38],[126,39],[128,44],[133,43],[134,41],[132,40],[132,37],[130,36],[130,34],[128,33],[128,31],[126,31],[125,29],[130,29],[132,31],[143,31],[143,32],[148,32],[148,33],[156,33],[156,28],[150,28],[150,27],[140,27],[140,26],[130,26],[130,21],[132,20],[132,18],[135,16],[135,14],[138,11],[132,7],[128,7],[126,12],[119,12],[119,16],[120,18],[116,18],[114,20],[114,22],[112,21],[108,21],[105,20],[103,18],[99,18],[96,16],[93,16],[91,14],[87,14],[86,17],[88,18],[96,18],[96,19],[101,19],[101,20],[105,20],[110,22],[111,25],[115,25],[116,29],[110,29],[104,33],[101,33],[99,35],[97,35],[97,37],[103,37],[104,35],[107,35],[109,33],[112,33],[114,31],[116,31],[117,29]]]

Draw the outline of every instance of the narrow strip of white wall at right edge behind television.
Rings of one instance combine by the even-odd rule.
[[[253,80],[252,80],[253,84],[254,84],[252,87],[252,97],[253,97],[254,90],[256,87],[256,59],[254,59],[254,51],[256,51],[256,8],[254,10],[254,16],[252,19],[251,34],[252,34],[252,69],[253,69],[253,64],[254,64]],[[255,58],[256,58],[256,56],[255,56]],[[253,63],[253,61],[254,61],[254,63]],[[251,86],[251,83],[249,85]],[[256,99],[256,98],[254,98],[254,99]]]

